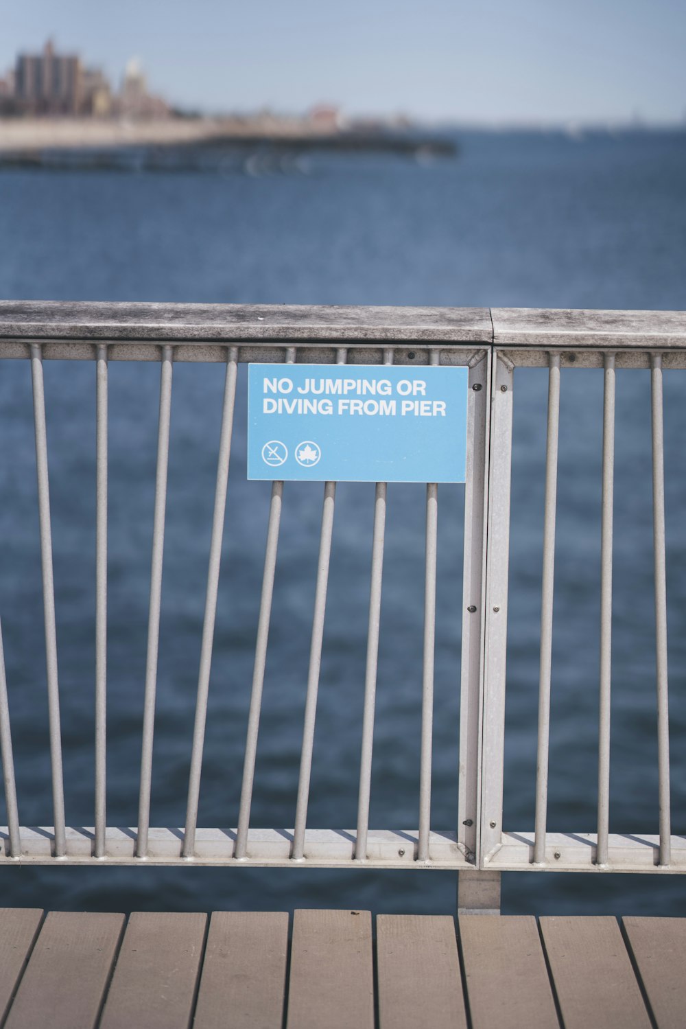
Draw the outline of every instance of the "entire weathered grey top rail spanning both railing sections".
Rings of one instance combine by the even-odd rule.
[[[0,340],[682,349],[683,311],[0,300]]]

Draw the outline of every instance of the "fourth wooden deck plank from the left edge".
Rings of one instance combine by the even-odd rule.
[[[193,1029],[281,1029],[288,915],[214,912]]]

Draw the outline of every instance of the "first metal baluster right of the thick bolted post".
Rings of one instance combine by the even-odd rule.
[[[552,664],[552,601],[555,574],[555,508],[557,503],[557,441],[559,436],[559,354],[548,354],[548,433],[545,454],[543,519],[543,582],[541,589],[541,655],[538,687],[538,750],[536,755],[536,827],[534,864],[545,861],[548,805],[548,744],[550,738],[550,675]]]

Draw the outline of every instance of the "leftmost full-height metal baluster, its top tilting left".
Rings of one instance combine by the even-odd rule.
[[[60,729],[58,636],[55,623],[55,582],[52,578],[50,493],[47,473],[47,429],[45,425],[43,358],[40,346],[37,343],[31,344],[31,377],[33,381],[33,415],[36,433],[36,472],[38,476],[40,558],[43,578],[47,705],[50,734],[50,770],[52,774],[52,810],[55,818],[55,856],[64,857],[66,854],[67,842],[65,830],[64,780],[62,772],[62,733]]]

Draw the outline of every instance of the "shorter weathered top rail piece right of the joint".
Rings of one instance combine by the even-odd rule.
[[[491,317],[493,342],[498,347],[649,350],[686,346],[683,311],[492,308]]]

